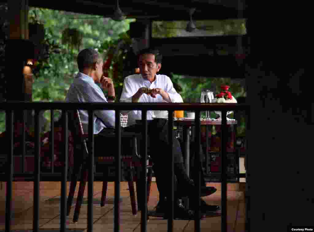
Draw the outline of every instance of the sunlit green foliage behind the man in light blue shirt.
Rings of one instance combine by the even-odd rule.
[[[49,57],[46,60],[40,59],[34,70],[33,101],[64,100],[73,77],[78,72],[78,51],[93,47],[100,53],[105,53],[111,45],[125,36],[123,33],[129,29],[130,22],[134,21],[126,19],[116,22],[95,15],[41,8],[30,8],[29,18],[30,21],[45,25],[45,41],[49,50]],[[79,38],[76,37],[77,40],[73,41],[72,34],[79,34]]]

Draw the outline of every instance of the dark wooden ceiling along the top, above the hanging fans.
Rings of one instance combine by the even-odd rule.
[[[247,7],[244,1],[245,0],[197,0],[180,3],[179,1],[165,0],[123,0],[119,1],[119,5],[127,18],[189,20],[189,9],[196,8],[193,19],[226,19],[245,17]],[[60,0],[29,0],[29,6],[110,17],[116,8],[116,1],[68,0],[65,3]],[[242,10],[239,12],[238,8]]]

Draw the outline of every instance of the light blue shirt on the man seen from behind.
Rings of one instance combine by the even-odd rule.
[[[71,84],[66,97],[67,102],[102,102],[107,103],[101,88],[95,84],[93,78],[79,72]],[[79,110],[84,133],[88,133],[88,112]],[[103,128],[115,127],[114,110],[94,111],[94,134],[98,134]]]

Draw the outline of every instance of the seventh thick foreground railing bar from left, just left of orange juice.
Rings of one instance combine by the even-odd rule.
[[[173,110],[168,111],[168,140],[169,140],[169,145],[170,145],[170,150],[169,153],[171,154],[171,160],[170,160],[170,178],[169,181],[171,182],[170,184],[170,199],[168,206],[170,207],[169,209],[169,214],[168,214],[168,232],[173,231],[173,217],[174,217],[174,144],[173,144]],[[167,198],[168,201],[168,198]]]

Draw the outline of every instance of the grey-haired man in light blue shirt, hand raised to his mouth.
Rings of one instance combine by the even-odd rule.
[[[110,78],[103,76],[103,60],[98,51],[84,49],[77,57],[79,73],[75,76],[69,88],[67,102],[114,102],[115,89]],[[108,91],[108,99],[105,98],[100,86]],[[88,112],[79,110],[84,133],[88,132]],[[98,134],[104,128],[115,127],[114,110],[94,111],[94,134]]]

